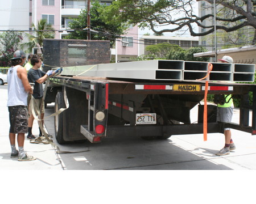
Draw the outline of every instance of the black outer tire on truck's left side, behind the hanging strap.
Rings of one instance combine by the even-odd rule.
[[[57,112],[60,108],[65,108],[63,93],[57,92],[55,97],[55,106],[54,110]],[[61,145],[65,143],[63,139],[63,113],[60,113],[57,116],[54,116],[54,126],[55,126],[55,138],[56,141]]]

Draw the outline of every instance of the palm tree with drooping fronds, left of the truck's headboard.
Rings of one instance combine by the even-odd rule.
[[[54,31],[46,31],[54,29],[51,24],[47,23],[46,19],[39,20],[37,27],[34,23],[32,23],[32,28],[34,28],[34,30],[37,30],[35,31],[35,35],[25,33],[28,42],[20,44],[20,48],[26,50],[26,52],[28,53],[32,53],[33,48],[43,46],[43,39],[53,39],[55,35]]]

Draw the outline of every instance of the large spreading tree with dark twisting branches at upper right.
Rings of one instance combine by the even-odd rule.
[[[203,0],[196,0],[203,1]],[[213,0],[204,0],[213,5]],[[256,29],[256,0],[215,0],[216,6],[229,9],[228,18],[217,15],[216,29],[226,32],[251,26]],[[204,25],[204,20],[212,21],[214,15],[199,17],[193,9],[195,0],[117,0],[104,12],[106,19],[119,22],[139,23],[140,27],[149,27],[155,33],[188,30],[191,36],[205,36],[214,32],[214,25]],[[230,15],[232,14],[232,15]],[[229,23],[234,23],[230,25]],[[168,25],[170,28],[163,28]],[[195,25],[207,28],[204,32],[196,32]],[[255,40],[255,37],[254,37]]]

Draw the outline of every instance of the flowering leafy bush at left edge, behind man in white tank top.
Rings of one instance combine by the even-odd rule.
[[[7,31],[0,34],[0,66],[10,66],[10,59],[22,40],[22,32]]]

